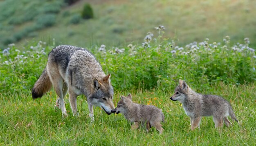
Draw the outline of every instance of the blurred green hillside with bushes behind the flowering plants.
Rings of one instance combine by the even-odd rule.
[[[255,14],[255,0],[0,0],[0,48],[52,38],[83,47],[141,43],[159,24],[178,45],[229,35],[231,44],[248,37],[255,47]]]

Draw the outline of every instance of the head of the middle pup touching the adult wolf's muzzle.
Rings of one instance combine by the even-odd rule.
[[[132,104],[132,95],[128,94],[127,97],[121,96],[121,100],[117,103],[117,108],[115,109],[115,112],[125,114]]]

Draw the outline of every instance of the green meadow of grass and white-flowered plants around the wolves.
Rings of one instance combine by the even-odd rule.
[[[231,43],[226,36],[221,42],[206,38],[178,46],[163,37],[163,26],[155,29],[158,35],[148,33],[142,44],[86,49],[111,74],[115,106],[120,95],[131,93],[134,102],[162,109],[166,121],[162,135],[154,128],[132,131],[123,115],[107,115],[100,108],[94,108],[91,122],[84,96],[78,97],[79,117],[72,116],[68,95],[69,116],[62,117],[54,108],[53,89],[32,100],[31,88],[56,42],[30,41],[24,46],[9,44],[0,53],[0,145],[256,145],[256,54],[250,40]],[[169,99],[179,79],[197,92],[224,97],[239,122],[218,130],[212,117],[204,117],[201,128],[191,131],[180,103]]]

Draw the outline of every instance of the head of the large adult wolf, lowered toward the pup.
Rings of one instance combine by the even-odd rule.
[[[113,87],[110,84],[110,74],[103,79],[93,79],[89,103],[101,107],[108,115],[115,109],[113,104]]]

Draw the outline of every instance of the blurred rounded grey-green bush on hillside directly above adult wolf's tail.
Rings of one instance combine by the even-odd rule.
[[[56,22],[56,15],[55,14],[44,14],[40,15],[36,20],[36,25],[42,27],[51,27]]]

